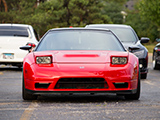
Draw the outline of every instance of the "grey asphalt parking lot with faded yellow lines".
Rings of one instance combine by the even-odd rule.
[[[160,71],[153,70],[151,56],[138,101],[113,94],[56,94],[24,101],[22,70],[0,66],[0,120],[159,120]]]

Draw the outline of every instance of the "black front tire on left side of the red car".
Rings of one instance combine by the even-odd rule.
[[[23,82],[22,82],[22,98],[24,100],[36,100],[38,96],[36,95],[32,95],[30,93],[28,93],[25,89],[25,85],[24,85],[24,78],[23,78]]]

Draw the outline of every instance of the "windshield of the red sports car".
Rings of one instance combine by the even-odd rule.
[[[111,32],[91,30],[51,31],[36,51],[46,50],[111,50],[124,51]]]

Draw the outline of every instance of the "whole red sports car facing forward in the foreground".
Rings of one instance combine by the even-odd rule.
[[[51,29],[23,61],[22,90],[24,100],[43,93],[115,93],[138,100],[138,58],[110,30]]]

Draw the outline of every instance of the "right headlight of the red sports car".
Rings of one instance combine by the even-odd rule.
[[[127,57],[112,57],[112,64],[127,64]]]

